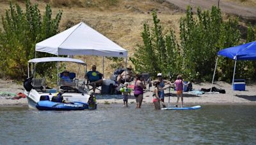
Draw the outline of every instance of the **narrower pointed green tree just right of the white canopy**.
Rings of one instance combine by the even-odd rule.
[[[157,18],[156,11],[152,13],[154,27],[151,28],[147,23],[143,25],[143,45],[138,45],[133,57],[130,57],[136,71],[149,72],[152,76],[156,76],[158,72],[162,72],[167,77],[170,74],[177,73],[175,61],[176,54],[179,55],[179,46],[174,35],[174,31],[170,29],[168,33],[163,32],[160,20]]]

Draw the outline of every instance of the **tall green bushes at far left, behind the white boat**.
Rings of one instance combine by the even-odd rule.
[[[43,16],[38,4],[31,5],[26,1],[26,11],[18,4],[10,3],[10,9],[2,17],[3,31],[0,31],[0,69],[1,76],[22,79],[27,75],[27,63],[35,57],[35,44],[58,33],[62,12],[58,11],[52,18],[49,4],[45,7]],[[36,57],[51,56],[37,53]],[[52,64],[38,67],[36,72],[45,75],[49,69],[55,69]]]

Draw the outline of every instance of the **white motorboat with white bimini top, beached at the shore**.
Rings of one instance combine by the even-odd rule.
[[[76,77],[71,78],[71,82],[65,83],[64,80],[61,80],[61,74],[58,72],[57,67],[57,86],[56,88],[49,88],[45,85],[45,78],[35,78],[35,66],[37,63],[42,62],[74,62],[76,64],[80,64],[84,66],[86,69],[86,64],[82,60],[78,59],[70,59],[66,57],[44,57],[31,59],[28,61],[28,79],[24,81],[25,91],[28,99],[29,108],[36,109],[36,104],[40,101],[40,98],[44,98],[44,96],[49,96],[51,100],[56,93],[61,91],[63,92],[62,97],[67,102],[83,102],[88,103],[90,95],[88,95],[88,90],[84,85],[85,80],[79,80]],[[31,64],[32,68],[29,69],[29,64]],[[57,65],[58,66],[58,65]],[[29,76],[29,71],[31,71],[32,76]],[[85,70],[86,71],[86,70]],[[74,74],[74,73],[73,73]],[[76,76],[76,74],[75,74]]]

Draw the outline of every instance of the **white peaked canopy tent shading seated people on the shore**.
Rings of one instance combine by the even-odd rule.
[[[127,50],[95,31],[84,22],[74,25],[66,31],[36,43],[36,52],[54,55],[96,55],[103,57],[125,57]]]

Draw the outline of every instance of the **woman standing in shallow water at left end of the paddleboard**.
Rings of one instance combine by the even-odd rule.
[[[159,97],[159,95],[161,94],[161,91],[160,91],[160,89],[161,89],[160,82],[157,81],[157,82],[155,83],[155,86],[156,86],[156,87],[155,87],[154,90],[153,90],[153,96],[152,96],[152,97],[153,97],[153,104],[154,104],[154,106],[155,106],[155,109],[159,110],[159,109],[161,109],[160,102],[161,102],[161,104],[163,105],[163,107],[166,107],[166,106],[165,106],[163,100],[161,100],[161,98]]]

